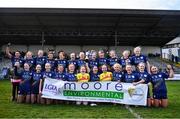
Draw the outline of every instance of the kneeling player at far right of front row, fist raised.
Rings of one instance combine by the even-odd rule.
[[[151,67],[151,83],[153,86],[153,98],[155,107],[167,107],[167,88],[165,84],[165,78],[172,78],[174,72],[171,65],[167,65],[167,72],[159,72],[156,66]]]

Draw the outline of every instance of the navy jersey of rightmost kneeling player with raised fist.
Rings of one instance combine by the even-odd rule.
[[[168,78],[167,73],[159,72],[151,75],[151,83],[153,85],[153,92],[167,91],[165,78]]]

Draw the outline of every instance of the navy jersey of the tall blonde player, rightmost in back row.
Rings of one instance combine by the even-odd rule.
[[[140,56],[132,56],[132,64],[137,66],[140,62],[146,63],[147,62],[147,57],[144,55]]]

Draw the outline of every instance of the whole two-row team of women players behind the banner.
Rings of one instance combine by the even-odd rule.
[[[128,50],[123,51],[121,57],[117,56],[115,50],[109,51],[108,56],[103,50],[82,51],[78,55],[70,53],[70,58],[66,57],[64,51],[59,51],[55,58],[53,51],[44,56],[43,50],[39,50],[37,56],[28,51],[25,57],[21,57],[19,51],[11,54],[9,46],[6,54],[11,58],[14,72],[11,79],[12,100],[19,103],[57,103],[58,100],[41,98],[44,78],[50,77],[70,82],[118,81],[132,83],[134,86],[152,84],[153,96],[151,98],[148,90],[147,106],[168,105],[165,78],[173,77],[172,67],[167,65],[165,72],[159,71],[157,66],[151,66],[147,57],[141,54],[140,47],[134,48],[133,54]],[[88,102],[76,102],[77,105],[81,103],[88,105]]]

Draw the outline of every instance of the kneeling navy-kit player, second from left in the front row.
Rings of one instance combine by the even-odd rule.
[[[41,73],[41,65],[36,66],[36,71],[33,72],[32,76],[32,89],[31,89],[31,103],[34,104],[35,102],[40,103],[40,94],[39,94],[39,83],[40,80],[43,78]]]

